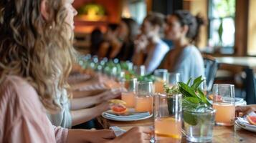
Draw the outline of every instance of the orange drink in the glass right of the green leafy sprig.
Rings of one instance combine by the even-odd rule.
[[[212,107],[216,109],[215,122],[219,125],[234,125],[234,104],[214,103]]]

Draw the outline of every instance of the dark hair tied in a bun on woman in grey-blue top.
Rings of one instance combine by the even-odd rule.
[[[191,39],[191,42],[197,41],[199,36],[200,27],[205,24],[201,16],[193,16],[189,11],[179,10],[175,11],[174,16],[179,19],[181,26],[189,26],[186,37]]]

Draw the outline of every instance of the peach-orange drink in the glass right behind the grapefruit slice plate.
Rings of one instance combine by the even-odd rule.
[[[153,111],[153,97],[136,97],[135,104],[136,112],[151,112]]]

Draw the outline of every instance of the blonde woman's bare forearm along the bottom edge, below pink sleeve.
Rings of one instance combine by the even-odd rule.
[[[115,134],[111,129],[102,129],[102,130],[69,129],[67,134],[67,143],[108,142],[113,138],[115,138]]]

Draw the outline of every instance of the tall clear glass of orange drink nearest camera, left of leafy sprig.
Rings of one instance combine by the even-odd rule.
[[[156,142],[181,142],[181,97],[181,94],[157,94],[155,96]]]

